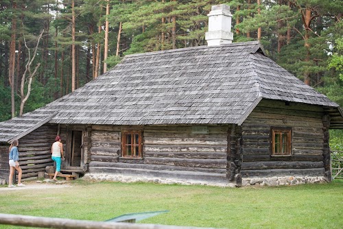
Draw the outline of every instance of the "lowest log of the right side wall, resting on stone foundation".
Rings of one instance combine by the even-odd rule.
[[[324,176],[324,168],[241,170],[241,176],[244,178],[267,178],[273,176]]]

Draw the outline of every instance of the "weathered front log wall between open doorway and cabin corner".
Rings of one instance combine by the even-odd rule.
[[[147,126],[143,129],[143,158],[128,159],[121,157],[120,127],[93,125],[89,171],[144,169],[145,174],[151,171],[154,176],[156,171],[161,176],[161,171],[178,171],[179,178],[187,178],[186,173],[211,173],[226,179],[228,126],[206,126],[197,131],[191,125]]]

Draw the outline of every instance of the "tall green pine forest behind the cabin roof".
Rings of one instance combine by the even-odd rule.
[[[123,56],[206,45],[212,5],[233,42],[268,56],[343,106],[342,0],[1,0],[0,121],[73,92]]]

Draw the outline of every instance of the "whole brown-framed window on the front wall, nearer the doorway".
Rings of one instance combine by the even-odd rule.
[[[141,130],[124,130],[121,133],[121,156],[126,158],[142,158]]]

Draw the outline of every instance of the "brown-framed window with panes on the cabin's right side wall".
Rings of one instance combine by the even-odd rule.
[[[291,128],[272,128],[272,156],[291,155]]]

